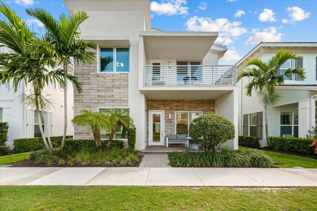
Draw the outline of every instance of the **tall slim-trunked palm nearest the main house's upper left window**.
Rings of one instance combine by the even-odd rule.
[[[89,49],[97,49],[97,45],[94,42],[87,42],[81,39],[79,25],[84,22],[88,16],[84,11],[75,12],[69,16],[62,13],[59,19],[56,20],[46,10],[26,9],[27,14],[37,18],[41,21],[47,30],[47,36],[50,37],[54,50],[56,51],[56,59],[58,64],[63,64],[64,67],[64,133],[61,142],[60,152],[63,150],[66,130],[67,130],[67,75],[68,64],[72,63],[72,58],[83,65],[91,65],[95,62],[95,53],[89,51]],[[81,93],[81,84],[75,84],[78,93]]]

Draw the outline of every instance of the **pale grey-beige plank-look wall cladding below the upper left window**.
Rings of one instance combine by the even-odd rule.
[[[74,89],[74,115],[83,109],[129,107],[129,74],[97,73],[97,62],[75,65],[74,75],[82,83],[82,92]],[[74,139],[94,139],[90,130],[75,126]]]

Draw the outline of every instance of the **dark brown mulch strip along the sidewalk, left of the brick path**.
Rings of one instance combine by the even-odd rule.
[[[139,161],[133,166],[128,164],[117,166],[111,162],[108,163],[86,163],[85,165],[81,163],[76,163],[74,165],[68,164],[68,158],[66,155],[59,156],[65,160],[64,164],[58,164],[58,161],[54,161],[52,164],[37,163],[35,159],[24,160],[16,163],[11,163],[13,166],[10,167],[139,167],[144,155],[139,155]]]

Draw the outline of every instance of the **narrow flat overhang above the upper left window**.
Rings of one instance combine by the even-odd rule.
[[[94,41],[98,46],[130,46],[129,36],[80,36],[88,41]]]

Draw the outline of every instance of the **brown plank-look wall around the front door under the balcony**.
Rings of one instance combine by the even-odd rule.
[[[203,114],[215,112],[215,100],[147,100],[146,101],[146,143],[149,145],[149,110],[164,110],[165,137],[175,134],[175,111],[202,111]],[[171,113],[171,119],[168,115]],[[172,120],[172,123],[167,123]],[[171,132],[169,132],[171,130]],[[164,137],[164,138],[165,138]],[[166,144],[165,144],[166,145]]]

